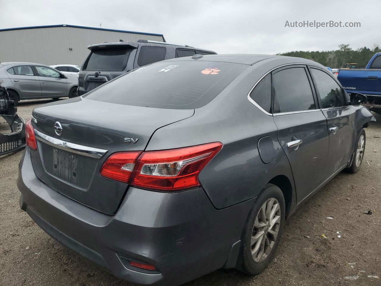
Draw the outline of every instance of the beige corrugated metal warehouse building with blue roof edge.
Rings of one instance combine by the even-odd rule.
[[[0,62],[25,61],[81,66],[90,52],[88,45],[139,39],[165,42],[162,34],[65,24],[0,29]]]

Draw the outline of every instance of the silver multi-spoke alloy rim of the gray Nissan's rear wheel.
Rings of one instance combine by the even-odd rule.
[[[251,235],[251,256],[255,262],[261,262],[274,249],[279,233],[280,205],[277,199],[270,198],[263,203],[254,221]]]

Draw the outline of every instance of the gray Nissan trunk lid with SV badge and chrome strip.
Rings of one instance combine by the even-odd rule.
[[[193,114],[193,109],[146,108],[85,98],[46,104],[33,112],[34,171],[65,196],[114,214],[127,184],[99,175],[107,157],[120,151],[142,151],[155,130]],[[61,135],[54,126],[62,128]]]

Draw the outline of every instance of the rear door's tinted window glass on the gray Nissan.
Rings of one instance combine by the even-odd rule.
[[[303,67],[276,72],[274,80],[274,113],[315,109],[311,85]]]

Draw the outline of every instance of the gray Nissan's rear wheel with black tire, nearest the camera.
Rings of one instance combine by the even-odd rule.
[[[278,202],[279,209],[275,206],[276,201]],[[270,205],[271,202],[273,202],[272,205]],[[271,206],[270,209],[273,209],[274,207],[277,208],[273,218],[279,216],[277,222],[273,225],[272,228],[269,224],[268,219],[266,219],[266,226],[263,226],[262,223],[264,222],[263,216],[261,215],[262,209],[263,207],[269,206]],[[260,211],[261,214],[259,213]],[[267,211],[265,211],[265,217],[266,213]],[[269,212],[269,214],[271,214],[271,212]],[[243,227],[240,253],[237,260],[236,268],[250,275],[256,275],[261,273],[274,258],[276,248],[279,244],[280,236],[282,235],[284,221],[285,200],[283,197],[283,193],[277,186],[272,184],[266,184],[266,186],[264,186],[263,190],[261,191],[261,193],[259,193],[258,197],[256,198],[253,206],[251,207],[247,220],[245,222],[245,226]],[[261,227],[259,228],[259,226]],[[273,234],[275,233],[274,231],[278,232],[275,239]],[[260,233],[263,233],[263,235],[260,235]],[[260,238],[261,236],[262,239]],[[256,242],[254,242],[254,244],[251,243],[252,237],[254,240],[257,239]],[[264,245],[259,241],[264,241]],[[269,247],[268,245],[266,246],[268,242],[270,242],[269,245],[272,245],[271,247]],[[264,251],[261,250],[262,246]],[[258,251],[255,251],[257,247]],[[252,255],[252,251],[254,252],[254,255]]]

